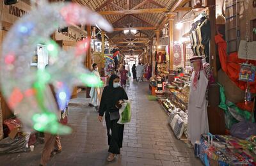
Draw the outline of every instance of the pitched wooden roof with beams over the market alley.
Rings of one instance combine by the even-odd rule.
[[[108,37],[124,54],[140,54],[155,29],[163,28],[166,13],[188,11],[184,4],[191,0],[74,0],[97,11],[114,27]],[[124,30],[136,29],[136,34],[124,34]]]

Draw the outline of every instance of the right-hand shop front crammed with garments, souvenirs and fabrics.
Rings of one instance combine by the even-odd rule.
[[[167,57],[172,54],[170,58],[159,50],[161,35],[156,32],[159,37],[153,44],[157,50],[153,63],[155,75],[150,79],[149,91],[157,96],[168,114],[168,122],[177,139],[191,142],[195,155],[205,165],[233,165],[236,160],[253,165],[256,155],[253,133],[256,132],[253,98],[256,64],[253,60],[256,56],[252,49],[256,46],[252,30],[255,17],[246,9],[256,11],[256,8],[252,7],[253,1],[245,2],[245,8],[235,3],[244,19],[232,19],[235,13],[232,15],[229,8],[233,8],[234,3],[226,2],[226,17],[221,13],[223,2],[216,1],[216,4],[216,17],[212,17],[211,7],[204,7],[206,4],[187,13],[178,12],[173,19],[175,33],[171,53],[170,46],[166,46],[165,53]],[[212,24],[212,18],[216,19],[216,24]],[[239,33],[234,41],[230,38],[236,37],[236,31],[230,30],[230,24]],[[249,36],[252,42],[246,43]],[[211,49],[212,45],[216,52]],[[169,66],[171,59],[172,68]],[[202,61],[199,72],[196,72],[196,61]],[[195,110],[200,110],[200,117]],[[195,133],[199,133],[199,139],[193,138]]]

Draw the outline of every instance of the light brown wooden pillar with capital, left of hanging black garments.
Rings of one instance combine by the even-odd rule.
[[[167,13],[166,17],[168,17],[169,23],[169,70],[173,70],[173,20],[176,13]]]

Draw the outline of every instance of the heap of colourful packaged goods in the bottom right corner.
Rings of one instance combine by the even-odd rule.
[[[213,135],[212,139],[209,136],[203,135],[200,141],[200,159],[205,165],[255,165],[255,156],[248,153],[247,148],[250,143],[247,140],[239,140],[227,135]],[[218,142],[218,143],[217,143]],[[225,146],[220,146],[221,144]],[[227,146],[229,144],[229,146]],[[241,145],[239,145],[241,144]]]

